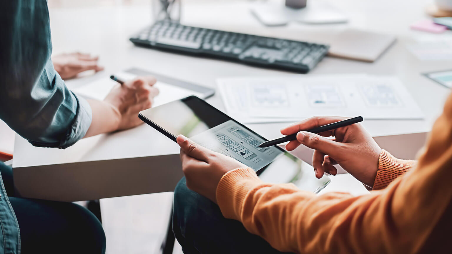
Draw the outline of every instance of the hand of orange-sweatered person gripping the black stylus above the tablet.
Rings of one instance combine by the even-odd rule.
[[[325,172],[337,174],[333,165],[339,164],[356,179],[372,188],[381,148],[361,124],[339,127],[319,134],[302,131],[345,119],[347,118],[313,117],[283,128],[282,135],[296,134],[296,140],[287,143],[286,149],[292,151],[300,145],[314,149],[312,166],[317,178],[321,178]],[[327,138],[329,136],[334,139]]]

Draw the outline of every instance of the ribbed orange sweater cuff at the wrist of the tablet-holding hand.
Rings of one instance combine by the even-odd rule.
[[[253,169],[238,168],[223,175],[217,186],[217,203],[223,216],[240,220],[246,194],[262,183]]]

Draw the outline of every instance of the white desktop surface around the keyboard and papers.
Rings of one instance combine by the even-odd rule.
[[[337,1],[333,2],[336,5],[338,4]],[[441,112],[444,99],[450,93],[449,89],[426,79],[420,73],[452,69],[452,61],[422,62],[405,48],[405,44],[412,42],[415,38],[439,36],[452,38],[451,31],[435,35],[409,29],[410,24],[425,16],[424,6],[428,2],[341,0],[339,7],[348,14],[350,18],[348,24],[313,26],[290,24],[287,27],[267,28],[259,24],[250,15],[248,10],[250,2],[247,1],[184,1],[182,23],[325,43],[328,43],[334,34],[348,26],[396,34],[398,40],[395,45],[374,63],[326,57],[309,74],[364,72],[377,75],[397,75],[419,103],[425,114],[425,119],[364,122],[364,126],[373,136],[381,136],[429,131],[434,119]],[[70,80],[67,84],[76,87],[100,76],[109,75],[132,66],[164,75],[175,75],[179,79],[210,87],[216,86],[215,80],[219,76],[286,73],[227,61],[134,47],[128,41],[128,38],[151,22],[150,13],[150,6],[146,4],[51,9],[54,52],[82,51],[99,54],[100,62],[105,66],[104,72],[78,80]],[[207,101],[217,108],[223,109],[218,94]],[[249,127],[262,136],[271,139],[280,136],[279,129],[285,125],[286,123],[250,124]],[[158,147],[155,145],[158,145]],[[176,144],[151,127],[142,125],[132,130],[79,141],[75,146],[65,151],[32,147],[18,137],[15,143],[13,167],[16,170],[39,165],[59,165],[61,163],[93,160],[106,161],[143,156],[149,158],[146,163],[141,161],[141,164],[131,165],[130,163],[133,163],[131,160],[130,163],[127,162],[127,165],[129,165],[129,168],[146,170],[149,169],[147,163],[152,162],[153,155],[175,155],[178,153],[179,148]],[[174,161],[176,156],[168,157],[168,160]],[[87,164],[84,166],[87,166]],[[100,164],[89,164],[88,166],[98,168]],[[174,174],[174,179],[179,178],[181,174],[177,164],[174,164],[174,168],[153,168],[152,170],[155,170],[155,172],[166,170],[165,173]],[[167,170],[175,171],[168,172]],[[150,181],[149,184],[162,183],[163,181],[162,178],[152,178],[151,175],[149,177],[149,179],[146,179]],[[168,184],[172,184],[174,179],[165,180],[169,181]],[[153,191],[168,191],[170,188],[172,187],[162,187]]]

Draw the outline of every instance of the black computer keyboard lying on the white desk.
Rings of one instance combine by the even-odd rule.
[[[196,28],[170,21],[159,21],[130,40],[144,47],[301,73],[310,71],[329,48],[322,44]]]

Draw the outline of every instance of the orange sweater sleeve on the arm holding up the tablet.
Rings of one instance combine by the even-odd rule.
[[[443,253],[452,226],[451,144],[449,97],[417,165],[384,189],[315,195],[241,168],[220,180],[217,202],[225,217],[283,252]]]

